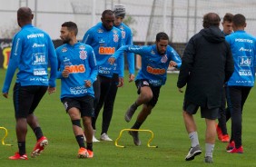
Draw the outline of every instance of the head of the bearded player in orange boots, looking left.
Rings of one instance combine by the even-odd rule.
[[[77,25],[74,22],[64,22],[61,28],[61,39],[64,44],[70,44],[72,40],[76,40],[78,33]]]

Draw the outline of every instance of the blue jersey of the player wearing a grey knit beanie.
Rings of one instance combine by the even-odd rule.
[[[133,32],[131,28],[123,23],[115,27],[121,30],[123,45],[133,45]],[[126,53],[126,57],[127,57],[129,74],[134,74],[134,71],[135,71],[134,54],[128,52]]]

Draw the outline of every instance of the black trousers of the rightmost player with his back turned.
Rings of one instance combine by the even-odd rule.
[[[231,112],[231,141],[235,147],[241,146],[241,115],[243,105],[251,91],[248,86],[227,86],[226,95],[228,108]]]

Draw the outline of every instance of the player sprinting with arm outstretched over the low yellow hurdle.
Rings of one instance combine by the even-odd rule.
[[[132,129],[140,129],[147,116],[152,112],[157,103],[160,89],[166,82],[168,67],[181,66],[179,54],[168,43],[168,35],[161,32],[156,34],[155,44],[144,46],[124,45],[109,59],[110,64],[113,64],[116,58],[123,56],[123,52],[131,52],[142,56],[142,68],[135,79],[139,96],[124,115],[125,121],[129,123],[137,107],[143,105],[143,109],[138,114]],[[130,131],[129,133],[133,136],[134,144],[141,145],[138,132]]]

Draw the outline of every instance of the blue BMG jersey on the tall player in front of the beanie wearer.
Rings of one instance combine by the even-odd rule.
[[[108,63],[109,57],[122,46],[122,34],[118,28],[107,31],[102,23],[98,23],[84,34],[83,43],[94,48],[100,75],[112,77],[113,73],[117,73],[123,77],[123,58],[117,60],[116,64]]]

